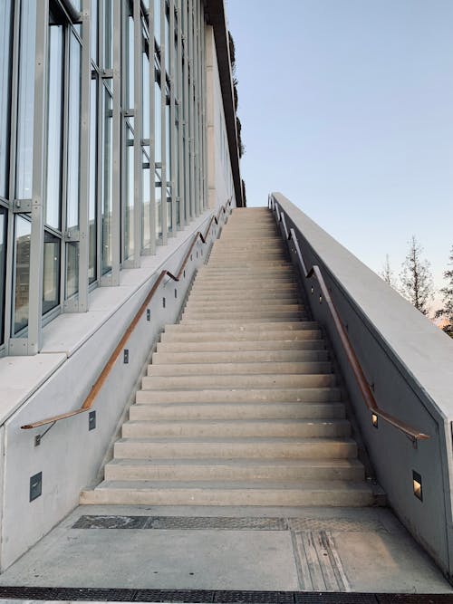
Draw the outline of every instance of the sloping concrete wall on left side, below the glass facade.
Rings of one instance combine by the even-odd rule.
[[[156,256],[143,257],[140,268],[121,271],[120,286],[94,290],[89,312],[63,314],[47,325],[40,354],[0,359],[2,570],[61,521],[77,505],[81,489],[97,480],[149,353],[164,325],[178,319],[192,277],[221,223],[211,227],[207,244],[198,237],[185,277],[160,285],[149,304],[150,321],[145,313],[127,343],[129,364],[120,355],[96,399],[96,428],[88,430],[88,414],[83,413],[59,421],[41,445],[34,446],[34,437],[46,427],[24,430],[21,426],[82,405],[162,268],[178,273],[193,235],[198,229],[205,232],[210,216],[200,216],[160,247]],[[39,472],[43,494],[30,503],[30,477]]]

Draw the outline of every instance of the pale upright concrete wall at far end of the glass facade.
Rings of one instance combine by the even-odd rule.
[[[218,75],[214,29],[206,27],[207,70],[207,203],[215,208],[235,199],[233,175],[226,136],[225,113]]]

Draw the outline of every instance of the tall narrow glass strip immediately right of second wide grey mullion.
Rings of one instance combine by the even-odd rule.
[[[88,204],[89,248],[88,248],[88,283],[97,278],[97,131],[98,131],[98,82],[92,80],[90,88],[90,200]]]

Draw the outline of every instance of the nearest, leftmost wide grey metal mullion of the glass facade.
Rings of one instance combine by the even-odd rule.
[[[36,0],[34,57],[34,132],[32,177],[32,226],[26,353],[36,354],[43,345],[43,201],[46,133],[47,43],[49,0]]]

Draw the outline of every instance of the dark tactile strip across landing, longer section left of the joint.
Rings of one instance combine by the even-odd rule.
[[[284,518],[206,516],[81,516],[73,529],[161,529],[221,531],[287,531]]]

